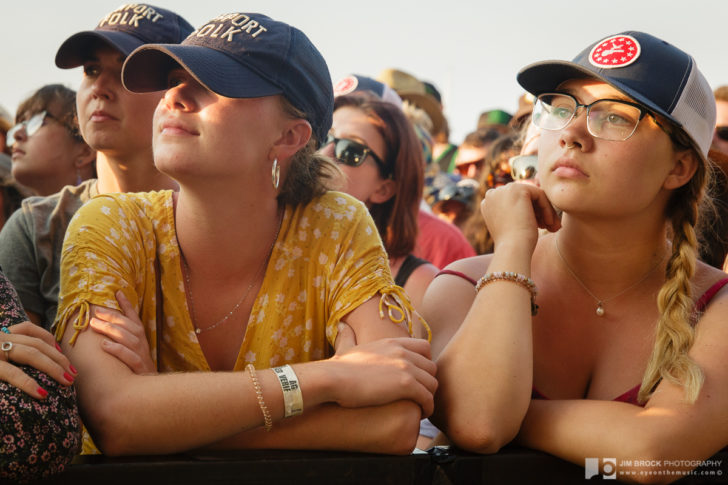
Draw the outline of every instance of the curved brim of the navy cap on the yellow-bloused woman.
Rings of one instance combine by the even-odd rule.
[[[210,91],[228,98],[259,98],[283,93],[280,87],[228,55],[198,45],[139,47],[124,62],[121,77],[129,91],[160,91],[167,89],[167,75],[177,66]]]

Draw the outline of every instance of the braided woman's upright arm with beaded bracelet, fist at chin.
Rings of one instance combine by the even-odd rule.
[[[525,184],[508,184],[488,191],[482,209],[495,242],[487,271],[530,277],[538,227],[560,227],[545,194]],[[452,269],[467,272],[465,267]],[[494,453],[516,436],[531,399],[529,290],[512,281],[491,282],[474,297],[463,319],[463,309],[455,307],[464,298],[457,295],[473,295],[473,290],[449,279],[450,292],[426,295],[439,319],[433,322],[436,327],[453,328],[462,321],[437,358],[440,388],[433,422],[461,448]],[[431,318],[429,313],[425,317]]]

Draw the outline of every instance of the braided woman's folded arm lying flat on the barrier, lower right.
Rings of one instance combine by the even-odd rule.
[[[694,468],[672,465],[715,454],[728,444],[726,300],[725,296],[714,299],[697,326],[690,356],[702,369],[705,382],[695,403],[686,402],[682,387],[664,379],[644,408],[613,401],[534,400],[518,437],[520,443],[579,465],[588,456],[615,457],[617,463],[659,462],[660,466],[650,468],[653,471]]]

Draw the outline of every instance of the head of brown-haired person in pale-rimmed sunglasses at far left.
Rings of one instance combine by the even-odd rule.
[[[20,103],[15,122],[6,142],[12,147],[13,177],[37,195],[96,176],[96,151],[78,129],[75,91],[43,86]]]

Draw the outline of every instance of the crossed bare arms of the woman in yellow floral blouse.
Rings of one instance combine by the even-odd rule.
[[[371,300],[345,319],[352,328],[361,318],[371,318],[372,303],[376,306]],[[382,321],[377,330],[373,324],[356,338],[401,331],[389,320],[386,325]],[[77,367],[84,369],[77,380],[84,419],[97,444],[111,455],[173,453],[213,443],[404,453],[411,447],[407,449],[407,439],[398,441],[403,430],[411,424],[414,443],[421,409],[432,410],[435,370],[429,344],[421,340],[361,342],[331,359],[296,364],[304,414],[286,421],[281,421],[283,393],[278,379],[270,370],[259,370],[274,431],[242,433],[263,424],[247,373],[137,375],[103,350],[103,335],[84,331],[70,346],[71,334],[66,332],[63,345]],[[321,406],[324,403],[329,404]],[[371,426],[370,420],[380,425],[378,429],[365,427]]]

